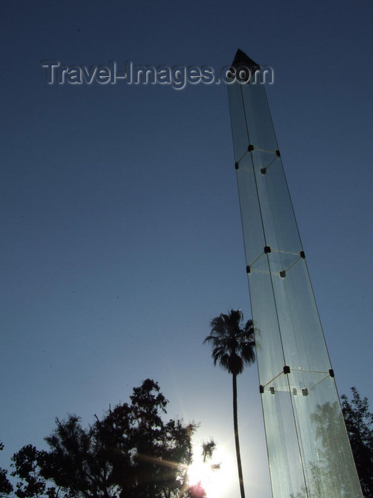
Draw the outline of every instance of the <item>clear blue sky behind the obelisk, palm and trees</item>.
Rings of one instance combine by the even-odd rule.
[[[147,377],[170,417],[234,458],[231,379],[202,341],[217,314],[250,317],[225,85],[48,85],[41,60],[218,73],[242,48],[274,69],[266,91],[337,387],[373,404],[372,2],[2,10],[0,466],[42,446],[56,416],[90,423]],[[258,383],[255,366],[239,378],[242,462],[247,495],[267,498]]]

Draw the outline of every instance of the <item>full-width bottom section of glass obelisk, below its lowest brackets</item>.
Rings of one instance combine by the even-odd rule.
[[[274,498],[361,498],[333,378],[281,373],[261,396]]]

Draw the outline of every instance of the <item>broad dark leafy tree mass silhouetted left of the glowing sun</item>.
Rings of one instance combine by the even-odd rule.
[[[204,498],[200,485],[188,484],[198,426],[165,422],[168,401],[151,379],[134,388],[130,399],[109,408],[102,419],[95,415],[88,428],[77,415],[57,418],[45,438],[48,451],[26,445],[13,455],[16,497]],[[208,452],[215,444],[205,447]]]

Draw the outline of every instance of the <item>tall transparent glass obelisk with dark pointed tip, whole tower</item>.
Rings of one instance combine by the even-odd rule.
[[[272,493],[362,498],[258,69],[228,94]]]

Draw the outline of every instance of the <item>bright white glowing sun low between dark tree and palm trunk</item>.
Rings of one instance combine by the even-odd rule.
[[[191,486],[200,482],[207,498],[225,497],[227,488],[232,484],[234,465],[229,454],[217,448],[210,462],[203,462],[196,452],[193,464],[188,468],[188,480]]]

